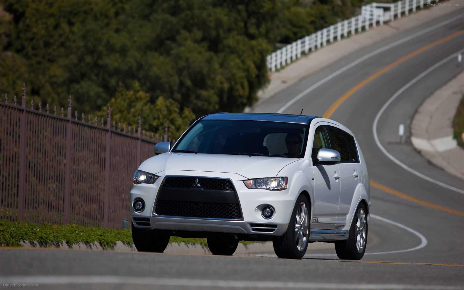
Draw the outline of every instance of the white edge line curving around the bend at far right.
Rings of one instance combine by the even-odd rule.
[[[425,180],[428,180],[430,182],[433,182],[435,184],[438,184],[439,186],[441,187],[445,187],[445,188],[448,188],[448,189],[451,189],[451,190],[454,190],[458,193],[463,193],[464,194],[464,190],[461,190],[459,188],[456,188],[456,187],[452,187],[450,185],[447,185],[443,182],[440,182],[438,180],[434,180],[428,176],[425,176],[424,174],[421,174],[417,171],[415,171],[414,169],[412,168],[409,168],[407,167],[405,164],[403,164],[402,162],[400,162],[398,159],[396,159],[395,157],[393,157],[393,155],[391,155],[390,153],[387,152],[387,150],[382,146],[382,144],[380,144],[380,141],[379,141],[379,137],[377,135],[377,123],[379,122],[379,119],[380,119],[380,116],[382,115],[382,113],[387,109],[387,107],[393,102],[394,99],[396,99],[398,96],[401,95],[401,93],[403,93],[407,88],[409,88],[412,84],[416,83],[417,81],[419,81],[419,79],[421,79],[422,77],[425,77],[425,75],[427,75],[429,72],[433,71],[434,69],[436,69],[438,66],[444,64],[445,62],[451,60],[452,58],[455,58],[456,56],[458,56],[458,54],[460,53],[463,53],[464,52],[464,49],[456,52],[456,53],[453,53],[452,55],[450,55],[449,57],[439,61],[438,63],[432,65],[430,68],[428,68],[426,71],[422,72],[419,76],[415,77],[412,81],[410,81],[409,83],[407,83],[404,87],[402,87],[399,91],[397,91],[388,101],[387,103],[385,103],[383,105],[383,107],[380,109],[379,113],[377,113],[377,116],[375,116],[375,119],[374,119],[374,124],[372,125],[372,131],[374,133],[374,139],[375,139],[375,143],[377,144],[377,146],[380,148],[380,150],[382,150],[382,152],[387,155],[388,158],[390,158],[390,160],[392,160],[393,162],[395,162],[396,164],[400,165],[402,168],[406,169],[407,171],[411,172],[412,174],[415,174],[417,176],[419,176],[420,178],[423,178]]]

